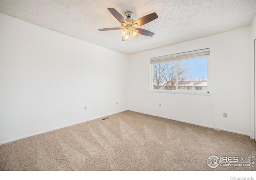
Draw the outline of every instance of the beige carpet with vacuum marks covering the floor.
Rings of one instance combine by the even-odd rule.
[[[248,136],[132,111],[0,146],[0,170],[256,170],[210,168],[216,156],[256,156]]]

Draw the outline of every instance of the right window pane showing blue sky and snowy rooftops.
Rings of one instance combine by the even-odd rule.
[[[178,89],[207,90],[207,58],[178,61]]]

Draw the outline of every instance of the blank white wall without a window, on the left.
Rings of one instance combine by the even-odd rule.
[[[0,14],[0,144],[127,110],[127,65],[125,54]]]

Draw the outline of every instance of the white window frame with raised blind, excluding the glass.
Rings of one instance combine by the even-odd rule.
[[[156,90],[153,89],[153,64],[157,63],[163,63],[163,62],[176,62],[176,67],[178,64],[178,61],[180,60],[189,60],[189,59],[195,59],[195,58],[207,58],[207,90],[182,90],[178,89],[178,76],[176,76],[176,88],[175,90]],[[161,93],[176,93],[176,94],[198,94],[198,95],[210,95],[210,68],[209,63],[210,61],[210,48],[201,49],[201,50],[194,50],[189,52],[182,52],[177,54],[170,54],[167,56],[159,56],[150,58],[150,92],[161,92]],[[178,71],[178,68],[176,68],[176,71]],[[178,74],[178,72],[176,72]]]

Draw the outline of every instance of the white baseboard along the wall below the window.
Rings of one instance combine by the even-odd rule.
[[[166,118],[166,119],[170,119],[170,120],[176,120],[176,121],[180,121],[180,122],[186,122],[186,123],[188,123],[188,124],[194,124],[194,125],[203,126],[203,127],[206,127],[206,128],[212,128],[212,129],[216,129],[216,128],[217,128],[218,130],[222,130],[222,131],[233,132],[233,133],[236,133],[236,134],[242,134],[242,135],[250,136],[250,134],[246,134],[246,133],[244,133],[244,132],[234,131],[234,130],[230,130],[230,129],[219,128],[219,127],[216,127],[216,128],[215,128],[214,126],[208,126],[208,125],[205,125],[205,124],[194,123],[194,122],[185,121],[185,120],[180,120],[180,119],[176,119],[176,118],[170,118],[170,117],[161,116],[161,115],[157,115],[157,114],[151,114],[151,113],[136,111],[136,110],[132,110],[132,109],[128,109],[128,110],[134,111],[134,112],[139,112],[139,113],[142,113],[142,114],[148,114],[148,115],[151,115],[151,116],[157,116],[157,117],[161,117],[161,118]]]

